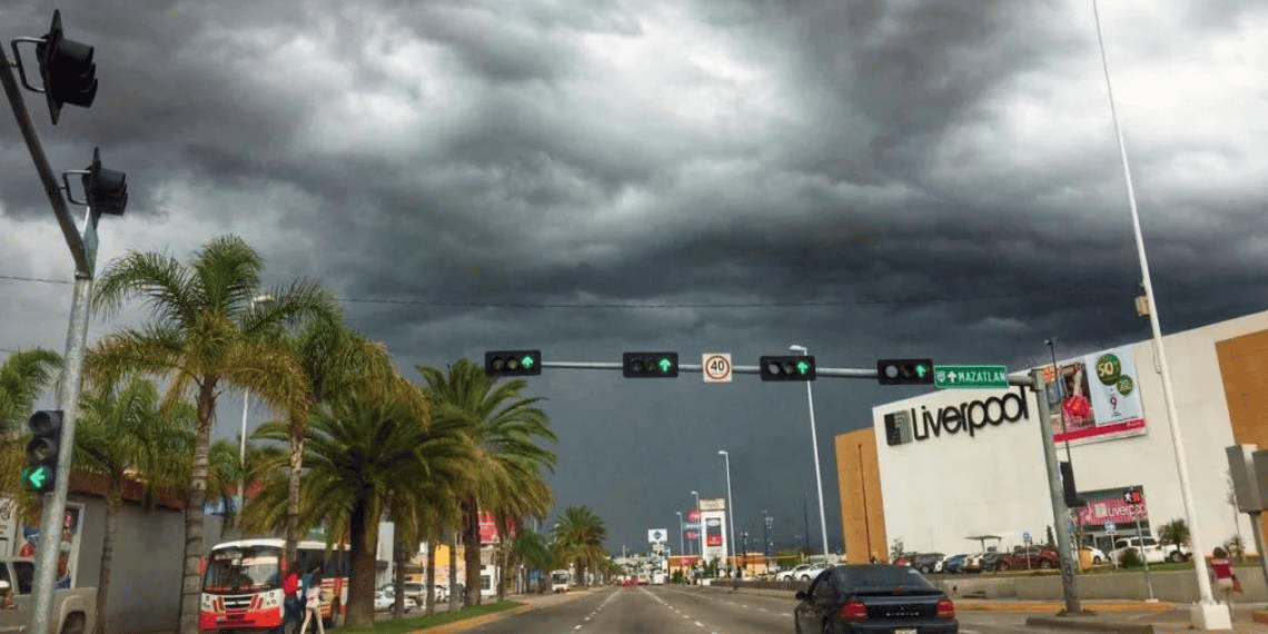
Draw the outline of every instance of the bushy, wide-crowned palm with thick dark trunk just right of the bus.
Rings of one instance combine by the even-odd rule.
[[[299,505],[299,525],[330,525],[333,539],[345,530],[351,539],[353,569],[349,579],[347,623],[374,620],[374,573],[378,521],[393,503],[407,498],[416,483],[437,470],[470,462],[472,448],[460,429],[429,426],[418,416],[418,403],[399,397],[366,398],[354,392],[318,410],[308,421],[304,443],[306,473]],[[285,441],[288,425],[261,425],[255,437]],[[280,526],[287,516],[287,477],[265,481],[264,488],[243,510],[251,526]],[[416,491],[425,491],[420,488]]]

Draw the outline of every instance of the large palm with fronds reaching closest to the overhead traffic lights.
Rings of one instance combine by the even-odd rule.
[[[436,368],[418,365],[427,384],[437,420],[460,421],[476,445],[477,478],[462,498],[467,557],[467,605],[479,596],[479,511],[502,517],[544,514],[549,508],[549,488],[543,469],[557,462],[539,443],[555,443],[550,418],[535,407],[541,398],[520,398],[524,380],[498,384],[469,359],[459,359],[445,377]],[[505,533],[503,533],[505,535]]]

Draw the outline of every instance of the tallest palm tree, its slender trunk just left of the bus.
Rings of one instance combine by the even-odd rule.
[[[194,427],[189,500],[185,508],[185,566],[180,631],[198,634],[198,564],[203,550],[203,501],[216,402],[223,384],[251,389],[284,411],[308,406],[303,369],[276,344],[293,317],[333,312],[333,298],[314,283],[294,283],[269,292],[256,304],[262,260],[242,238],[210,241],[188,266],[160,254],[129,252],[110,262],[98,280],[94,307],[119,309],[126,298],[145,297],[152,321],[103,337],[87,356],[95,374],[119,377],[143,372],[166,377],[164,407],[194,393]]]

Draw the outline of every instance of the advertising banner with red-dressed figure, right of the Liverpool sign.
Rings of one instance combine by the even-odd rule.
[[[1058,443],[1097,443],[1148,431],[1131,346],[1061,361],[1044,377]]]

